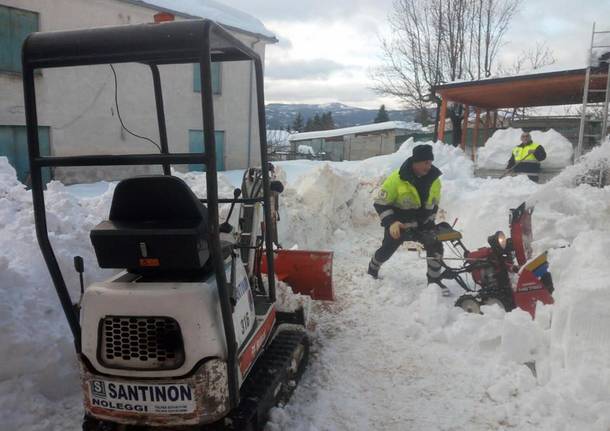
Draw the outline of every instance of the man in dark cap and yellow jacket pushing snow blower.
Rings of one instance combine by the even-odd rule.
[[[428,283],[436,283],[444,296],[449,290],[441,283],[443,245],[436,241],[435,222],[441,199],[441,171],[432,164],[431,145],[417,145],[413,154],[390,174],[379,190],[374,207],[384,236],[381,247],[369,262],[368,274],[373,278],[404,241],[421,242],[426,249]]]

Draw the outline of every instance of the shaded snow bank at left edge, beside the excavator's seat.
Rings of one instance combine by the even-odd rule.
[[[48,187],[49,237],[58,246],[68,289],[78,298],[73,256],[89,263],[86,283],[108,275],[91,265],[88,237],[96,214],[107,213],[111,194],[78,200],[59,183]],[[36,242],[31,194],[5,158],[0,158],[0,227],[0,422],[7,429],[35,429],[54,414],[56,406],[49,402],[75,394],[78,370],[70,330]]]

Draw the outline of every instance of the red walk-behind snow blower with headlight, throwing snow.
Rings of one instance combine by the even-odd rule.
[[[488,238],[488,247],[469,251],[462,234],[448,223],[437,225],[436,239],[449,245],[462,261],[460,267],[445,268],[442,278],[455,280],[467,293],[455,305],[468,312],[480,313],[481,305],[498,304],[506,311],[519,307],[534,317],[536,302],[552,304],[553,280],[548,271],[546,252],[532,259],[532,212],[525,203],[510,210],[511,237],[498,231]],[[467,283],[464,274],[474,281]],[[472,286],[472,287],[471,287]]]

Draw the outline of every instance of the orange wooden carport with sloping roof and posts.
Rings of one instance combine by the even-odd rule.
[[[607,67],[591,69],[589,103],[604,102],[607,76]],[[582,104],[586,79],[587,69],[574,69],[436,86],[433,91],[442,99],[437,124],[438,139],[444,141],[445,138],[447,105],[462,104],[464,118],[460,146],[465,149],[468,117],[471,109],[474,109],[476,119],[471,142],[474,159],[481,111],[486,112],[484,133],[487,138],[490,126],[496,126],[498,109]]]

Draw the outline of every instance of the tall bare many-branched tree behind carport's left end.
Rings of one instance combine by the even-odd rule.
[[[508,25],[521,0],[395,0],[392,36],[381,41],[383,64],[373,89],[407,106],[440,108],[435,86],[492,74]],[[453,142],[461,136],[461,105],[449,107]]]

